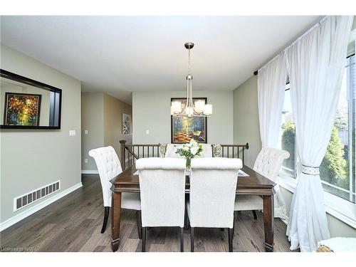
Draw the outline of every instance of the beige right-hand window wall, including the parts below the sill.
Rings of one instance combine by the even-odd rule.
[[[250,145],[246,159],[246,164],[250,167],[253,167],[258,152],[261,150],[258,125],[257,76],[253,75],[234,90],[234,142],[248,142]],[[281,192],[286,200],[288,216],[293,193],[284,188]],[[356,229],[330,214],[327,215],[331,236],[356,237]]]

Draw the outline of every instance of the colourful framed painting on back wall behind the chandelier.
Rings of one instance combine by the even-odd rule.
[[[193,98],[193,105],[197,100],[204,100],[206,98]],[[171,105],[173,101],[182,103],[182,110],[187,104],[187,98],[171,98]],[[171,142],[172,144],[182,144],[189,142],[192,138],[200,143],[207,142],[206,132],[206,117],[175,117],[171,115]]]

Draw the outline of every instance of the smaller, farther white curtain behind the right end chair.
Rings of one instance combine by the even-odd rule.
[[[258,70],[258,117],[262,148],[278,147],[286,80],[286,59],[283,53]],[[274,216],[286,219],[286,202],[279,189],[278,178],[275,182]]]

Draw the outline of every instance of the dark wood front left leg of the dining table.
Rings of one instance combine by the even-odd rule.
[[[121,192],[112,192],[111,249],[117,251],[120,244]]]

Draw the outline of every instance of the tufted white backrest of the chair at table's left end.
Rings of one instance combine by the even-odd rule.
[[[99,147],[89,151],[98,167],[101,188],[103,189],[104,206],[111,206],[110,180],[122,172],[119,157],[114,147]]]

